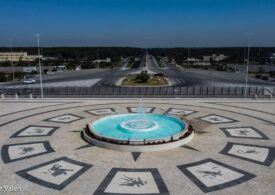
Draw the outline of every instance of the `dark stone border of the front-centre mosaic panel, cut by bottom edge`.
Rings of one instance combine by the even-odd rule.
[[[97,190],[94,192],[94,195],[111,195],[111,194],[115,194],[115,195],[131,195],[128,193],[107,193],[104,192],[106,190],[106,188],[108,187],[108,185],[111,183],[111,181],[113,180],[113,178],[115,177],[116,173],[119,171],[124,171],[124,172],[150,172],[155,180],[155,183],[158,187],[159,193],[148,193],[147,195],[168,195],[169,191],[158,171],[158,169],[156,168],[151,168],[151,169],[127,169],[127,168],[112,168],[112,170],[108,173],[108,175],[104,178],[104,180],[102,181],[102,183],[99,185],[99,187],[97,188]]]

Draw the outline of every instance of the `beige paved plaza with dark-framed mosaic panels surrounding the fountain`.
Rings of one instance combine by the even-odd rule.
[[[145,99],[184,117],[187,145],[119,152],[86,143],[89,122],[137,112],[138,99],[0,101],[0,194],[275,194],[275,101]]]

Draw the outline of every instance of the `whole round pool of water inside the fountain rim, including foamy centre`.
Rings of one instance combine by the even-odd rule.
[[[98,136],[127,141],[170,138],[186,130],[180,119],[160,114],[117,114],[96,120],[89,128]]]

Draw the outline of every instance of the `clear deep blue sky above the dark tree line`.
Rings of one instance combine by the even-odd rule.
[[[0,47],[275,46],[275,0],[0,0]]]

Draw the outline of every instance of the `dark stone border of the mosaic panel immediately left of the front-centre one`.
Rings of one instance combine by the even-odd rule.
[[[61,184],[54,184],[54,183],[50,183],[47,182],[45,180],[39,179],[37,177],[34,177],[30,174],[28,174],[27,172],[38,169],[40,167],[58,162],[58,161],[66,161],[68,163],[74,164],[74,165],[78,165],[78,166],[82,166],[82,168],[76,172],[75,174],[73,174],[72,176],[70,176],[69,178],[67,178],[66,180],[64,180]],[[75,161],[72,159],[69,159],[67,157],[61,157],[55,160],[51,160],[48,161],[46,163],[42,163],[21,171],[16,172],[17,175],[23,177],[26,180],[29,180],[30,182],[36,183],[38,185],[44,186],[44,187],[48,187],[48,188],[52,188],[52,189],[56,189],[56,190],[62,190],[63,188],[65,188],[67,185],[69,185],[71,182],[73,182],[75,179],[77,179],[80,175],[82,175],[84,172],[86,172],[88,169],[90,169],[93,165],[89,165],[83,162],[79,162],[79,161]]]

